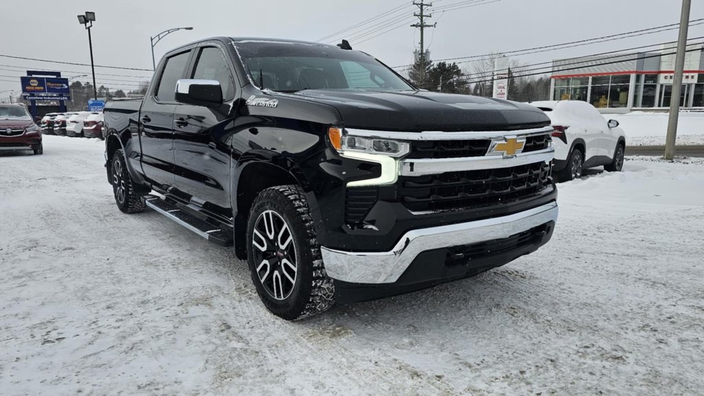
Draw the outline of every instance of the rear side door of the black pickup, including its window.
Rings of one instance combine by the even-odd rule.
[[[142,145],[142,170],[147,179],[166,190],[175,185],[173,117],[176,110],[175,87],[187,72],[191,51],[165,58],[159,66],[156,84],[144,98],[139,111],[139,140]]]

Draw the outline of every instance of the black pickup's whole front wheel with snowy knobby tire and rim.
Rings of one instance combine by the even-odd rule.
[[[308,202],[298,186],[262,191],[247,222],[247,262],[259,298],[286,320],[313,317],[334,305]]]

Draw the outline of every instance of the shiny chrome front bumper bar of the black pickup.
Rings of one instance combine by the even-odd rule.
[[[322,247],[327,275],[350,283],[394,283],[427,250],[508,238],[558,219],[549,203],[504,217],[408,231],[389,252],[346,252]]]

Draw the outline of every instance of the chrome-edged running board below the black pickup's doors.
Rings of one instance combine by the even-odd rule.
[[[153,210],[156,210],[156,212],[172,219],[174,222],[181,224],[199,236],[206,238],[210,242],[216,243],[220,246],[232,246],[232,229],[210,224],[196,215],[193,215],[191,212],[172,203],[168,203],[162,198],[158,198],[156,196],[146,196],[145,203]]]

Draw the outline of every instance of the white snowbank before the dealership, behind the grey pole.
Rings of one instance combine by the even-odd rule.
[[[605,114],[607,120],[617,120],[626,132],[629,146],[664,146],[667,136],[668,113],[634,111],[628,114]],[[679,113],[677,144],[704,144],[704,112]]]

